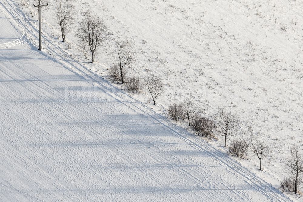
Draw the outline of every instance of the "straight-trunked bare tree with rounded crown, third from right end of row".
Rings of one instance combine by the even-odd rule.
[[[217,116],[217,134],[225,138],[224,147],[226,147],[227,137],[234,136],[239,128],[238,116],[232,114],[230,111],[221,109]]]

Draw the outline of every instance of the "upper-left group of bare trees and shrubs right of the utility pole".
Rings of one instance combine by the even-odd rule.
[[[62,42],[64,42],[66,34],[71,31],[74,24],[75,16],[70,0],[57,0],[57,5],[56,18],[61,30]],[[108,39],[107,27],[99,17],[85,13],[83,20],[79,22],[76,36],[85,57],[89,52],[91,63],[93,63],[96,51]],[[115,52],[116,62],[109,67],[109,72],[116,82],[124,84],[127,70],[135,62],[135,48],[128,39],[116,40]],[[127,82],[127,89],[130,92],[138,92],[141,83],[148,89],[153,103],[156,104],[156,99],[164,92],[161,79],[154,74],[149,74],[143,78],[142,82],[138,77],[131,76]]]

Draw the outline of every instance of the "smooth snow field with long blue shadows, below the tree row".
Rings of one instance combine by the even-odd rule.
[[[289,201],[0,10],[1,201]]]

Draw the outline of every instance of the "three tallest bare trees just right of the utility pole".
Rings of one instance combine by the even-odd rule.
[[[42,0],[38,0],[42,1]],[[70,0],[57,0],[56,18],[62,34],[62,42],[65,41],[65,35],[71,31],[75,23],[74,8]],[[82,46],[85,56],[87,49],[91,55],[91,63],[94,62],[97,49],[108,39],[107,26],[98,16],[85,13],[81,22],[79,22],[76,36],[79,44]],[[125,41],[115,41],[117,64],[120,69],[120,78],[124,83],[124,69],[135,61],[134,46],[127,39]]]

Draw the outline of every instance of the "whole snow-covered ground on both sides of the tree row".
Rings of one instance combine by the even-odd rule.
[[[261,178],[278,188],[283,158],[302,144],[300,2],[72,1],[78,20],[90,9],[112,39],[134,41],[132,72],[148,69],[166,84],[157,106],[100,77],[114,62],[113,41],[92,65],[75,32],[60,43],[55,1],[43,15],[42,54],[35,10],[0,2],[2,201],[290,200]],[[226,107],[244,130],[261,131],[274,150],[265,170],[163,117],[188,97],[206,114]]]

